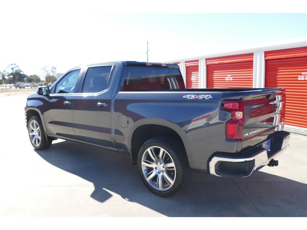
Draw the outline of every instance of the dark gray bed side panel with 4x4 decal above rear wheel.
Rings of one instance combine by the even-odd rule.
[[[208,99],[185,97],[202,94],[197,91],[120,92],[115,97],[114,105],[116,142],[130,149],[132,134],[138,127],[163,125],[172,128],[181,137],[190,167],[206,170],[208,158],[213,152],[236,152],[240,144],[225,140],[224,121],[229,114],[220,111],[220,101],[225,95],[210,92],[207,93],[211,95]],[[117,123],[121,116],[127,118],[126,127]]]

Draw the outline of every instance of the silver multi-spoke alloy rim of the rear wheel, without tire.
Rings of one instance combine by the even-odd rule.
[[[176,167],[169,153],[158,146],[146,149],[142,156],[143,175],[154,189],[165,191],[173,186]]]

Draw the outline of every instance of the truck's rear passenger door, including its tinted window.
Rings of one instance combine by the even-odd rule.
[[[111,145],[111,74],[114,65],[91,66],[84,71],[83,84],[74,97],[74,132],[80,141]]]

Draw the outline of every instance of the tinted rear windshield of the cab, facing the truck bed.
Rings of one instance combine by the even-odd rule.
[[[183,89],[179,69],[165,67],[126,67],[122,91]]]

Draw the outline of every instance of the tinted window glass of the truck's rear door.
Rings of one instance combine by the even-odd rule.
[[[85,75],[82,93],[98,93],[109,86],[112,66],[90,67]]]

